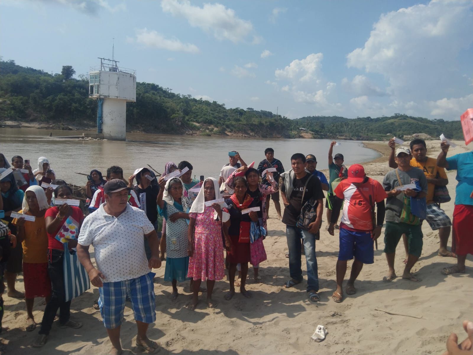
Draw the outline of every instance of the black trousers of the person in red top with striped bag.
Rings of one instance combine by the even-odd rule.
[[[43,320],[39,334],[49,335],[53,326],[54,317],[59,308],[59,323],[66,324],[70,317],[70,301],[64,302],[64,271],[63,271],[64,252],[56,249],[48,249],[48,274],[51,278],[53,293],[46,308],[44,309]]]

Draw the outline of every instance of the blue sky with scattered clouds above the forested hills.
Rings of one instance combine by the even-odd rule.
[[[0,56],[76,77],[112,57],[138,81],[289,118],[473,107],[473,0],[0,0]]]

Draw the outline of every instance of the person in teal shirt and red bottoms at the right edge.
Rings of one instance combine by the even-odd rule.
[[[456,253],[456,265],[445,267],[445,275],[464,273],[467,254],[473,254],[473,152],[455,154],[447,158],[450,145],[442,142],[437,165],[447,170],[456,170],[456,196],[453,210],[452,251]]]

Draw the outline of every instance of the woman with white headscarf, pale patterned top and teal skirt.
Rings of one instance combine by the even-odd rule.
[[[180,178],[173,177],[165,181],[159,178],[159,193],[157,198],[158,211],[166,218],[166,270],[164,281],[171,281],[173,293],[171,299],[177,298],[177,281],[190,280],[187,277],[189,269],[189,244],[187,241],[187,223],[192,201],[183,196],[183,183]]]

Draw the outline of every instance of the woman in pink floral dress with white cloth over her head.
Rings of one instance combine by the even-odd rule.
[[[207,305],[213,308],[212,291],[215,281],[223,279],[225,260],[223,257],[222,230],[226,241],[228,239],[229,214],[225,203],[208,202],[221,199],[219,184],[216,179],[205,179],[199,195],[194,200],[189,211],[189,273],[193,278],[193,299],[189,303],[194,310],[199,302],[201,281],[207,281]],[[226,244],[229,247],[229,244]]]

